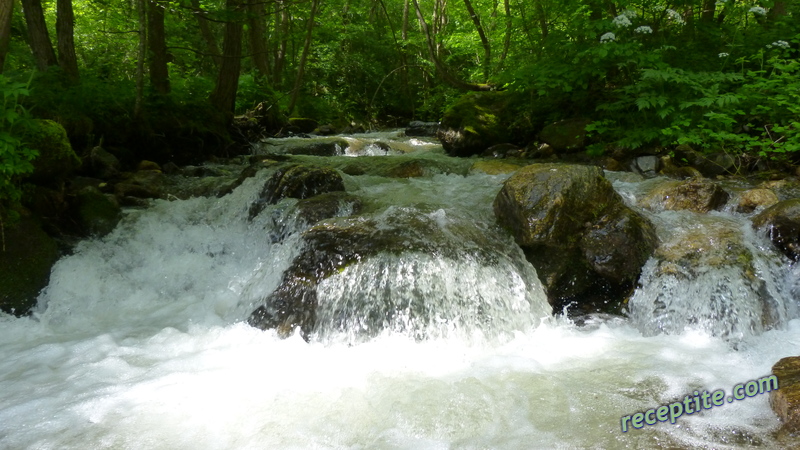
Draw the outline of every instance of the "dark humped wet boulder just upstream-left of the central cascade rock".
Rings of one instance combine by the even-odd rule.
[[[304,199],[344,190],[344,180],[336,170],[290,165],[279,169],[264,183],[258,199],[250,206],[250,217],[257,216],[266,205],[273,205],[287,197]]]

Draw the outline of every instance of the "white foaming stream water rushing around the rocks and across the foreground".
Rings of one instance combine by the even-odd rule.
[[[747,217],[648,213],[662,241],[717,220],[739,230],[754,277],[744,282],[721,266],[675,278],[652,260],[630,318],[576,326],[548,317],[535,272],[495,228],[491,201],[505,176],[347,177],[375,217],[391,220],[395,208],[443,230],[469,222],[499,237],[487,258],[385,255],[324,280],[323,325],[306,342],[244,323],[302,249],[299,233],[274,235],[276,223],[294,227],[293,200],[248,220],[267,176],[221,199],[129,212],[112,234],[83,242],[55,266],[33,318],[0,317],[0,448],[789,445],[776,436],[766,395],[674,425],[620,429],[622,416],[695,390],[730,393],[797,354],[797,273],[747,231]],[[647,186],[609,176],[630,202]],[[715,296],[719,285],[732,287]],[[754,289],[774,303],[770,326],[751,304]],[[709,296],[729,314],[706,314]],[[358,314],[373,297],[400,310],[407,298],[432,306],[425,323],[398,314],[383,332],[353,339],[348,327],[363,323]],[[471,309],[476,303],[485,305],[481,314]],[[693,318],[681,316],[685,310]],[[482,326],[486,317],[491,325]],[[420,338],[420,327],[437,332]]]

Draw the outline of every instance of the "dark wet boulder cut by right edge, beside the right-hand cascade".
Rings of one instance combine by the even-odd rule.
[[[792,261],[800,260],[800,198],[784,200],[753,218],[753,227],[764,230],[773,244]]]

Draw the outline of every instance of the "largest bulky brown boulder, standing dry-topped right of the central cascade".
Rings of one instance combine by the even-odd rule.
[[[657,240],[599,167],[534,164],[509,178],[494,201],[539,275],[554,311],[619,312]]]

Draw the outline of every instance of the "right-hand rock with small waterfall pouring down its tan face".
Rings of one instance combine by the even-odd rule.
[[[689,213],[681,213],[688,215]],[[628,302],[645,333],[697,327],[740,339],[785,323],[787,311],[770,285],[770,260],[759,256],[736,221],[712,215],[660,230],[661,243]],[[690,225],[684,225],[690,224]]]

